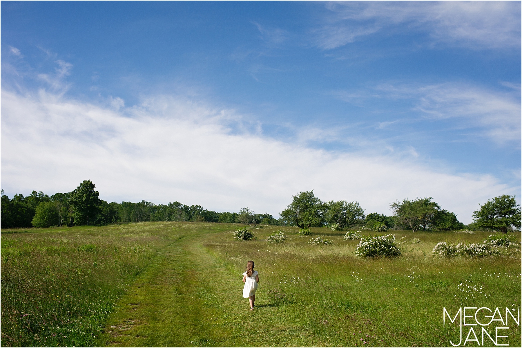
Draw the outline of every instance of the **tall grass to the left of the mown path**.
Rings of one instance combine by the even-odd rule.
[[[2,346],[89,346],[172,223],[10,229],[1,234]]]

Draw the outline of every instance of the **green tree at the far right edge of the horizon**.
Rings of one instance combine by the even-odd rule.
[[[480,205],[480,210],[473,212],[473,221],[480,227],[498,229],[507,233],[512,226],[520,228],[520,205],[515,195],[503,194]]]

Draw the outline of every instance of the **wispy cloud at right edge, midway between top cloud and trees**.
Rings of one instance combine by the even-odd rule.
[[[478,130],[496,143],[520,140],[520,95],[464,83],[423,85],[390,82],[357,91],[333,91],[340,100],[367,107],[375,99],[410,100],[400,112],[418,111],[433,120],[456,119],[455,127]],[[397,112],[397,110],[395,110]],[[379,123],[379,128],[394,121]]]

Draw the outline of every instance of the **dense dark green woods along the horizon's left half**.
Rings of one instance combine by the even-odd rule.
[[[239,213],[217,213],[206,210],[200,205],[186,205],[180,202],[108,203],[99,198],[99,192],[95,188],[90,180],[85,180],[72,192],[55,193],[49,196],[41,191],[32,191],[28,196],[15,194],[12,199],[9,199],[2,190],[1,227],[61,227],[143,221],[279,224],[278,219],[272,215],[254,214],[248,208],[243,208]]]

